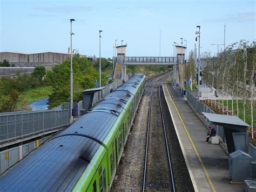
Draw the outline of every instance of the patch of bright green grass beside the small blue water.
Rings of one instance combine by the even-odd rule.
[[[16,111],[31,110],[29,104],[49,97],[52,94],[51,86],[42,86],[34,89],[29,89],[20,93]]]

